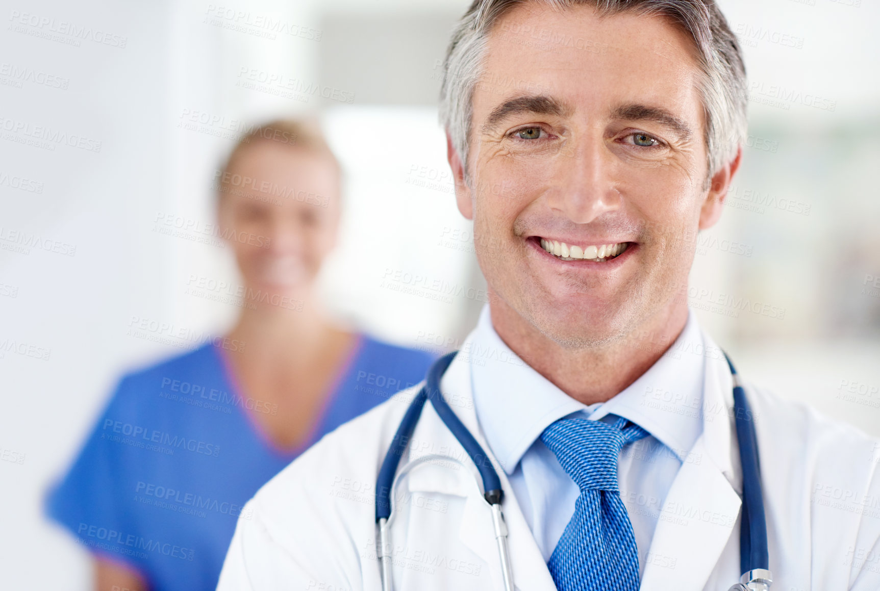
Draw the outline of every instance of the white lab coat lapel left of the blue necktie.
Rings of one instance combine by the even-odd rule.
[[[495,459],[480,429],[473,405],[471,368],[466,358],[459,355],[452,361],[440,387],[447,400],[459,401],[460,404],[452,406],[452,409],[476,440],[480,442],[480,446],[486,450],[490,456],[489,459],[495,466],[495,471],[501,477],[504,491],[504,519],[507,522],[510,563],[513,565],[513,580],[516,587],[528,591],[556,591],[544,557],[541,556],[538,544],[535,543],[534,536],[532,536],[532,529],[529,529],[525,522],[517,499],[513,495],[507,474]],[[455,398],[451,396],[452,393],[455,394]],[[436,422],[440,422],[442,425],[439,418]],[[492,514],[488,503],[480,494],[471,494],[467,497],[465,516],[461,522],[459,536],[462,544],[465,544],[486,562],[493,573],[497,588],[502,588],[501,565],[492,529]]]

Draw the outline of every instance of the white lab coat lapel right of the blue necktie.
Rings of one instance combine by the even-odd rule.
[[[716,569],[737,524],[742,501],[739,456],[732,439],[730,371],[703,333],[706,376],[703,387],[703,433],[673,480],[664,501],[642,575],[642,589],[700,591]],[[685,351],[683,354],[697,354]],[[737,470],[734,470],[737,465]],[[739,479],[737,479],[739,478]],[[736,487],[736,488],[735,488]],[[737,529],[738,531],[738,529]],[[738,547],[738,544],[735,544]],[[725,556],[725,563],[731,557]],[[736,559],[738,566],[738,555]],[[686,576],[682,576],[686,573]],[[738,577],[738,573],[733,575]],[[737,579],[731,579],[730,584]],[[726,587],[725,587],[726,588]]]

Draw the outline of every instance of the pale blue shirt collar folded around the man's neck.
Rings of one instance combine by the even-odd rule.
[[[569,397],[517,357],[495,332],[488,305],[469,340],[470,347],[462,353],[471,363],[477,419],[508,474],[546,427],[573,412],[593,420],[609,414],[625,417],[682,462],[702,433],[703,359],[678,353],[680,343],[702,342],[693,312],[672,347],[648,371],[614,398],[590,406]]]

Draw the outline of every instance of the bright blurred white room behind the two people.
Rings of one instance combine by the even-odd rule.
[[[436,96],[467,4],[4,0],[0,588],[91,588],[44,497],[122,373],[230,329],[217,179],[260,123],[316,115],[341,162],[334,317],[460,346],[487,297]],[[682,296],[749,380],[880,435],[880,4],[721,4],[750,128]]]

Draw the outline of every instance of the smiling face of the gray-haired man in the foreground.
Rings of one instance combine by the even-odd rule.
[[[563,347],[669,310],[719,215],[691,43],[660,18],[536,4],[489,35],[458,207],[493,306]]]

